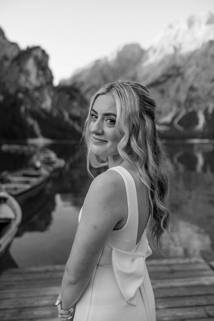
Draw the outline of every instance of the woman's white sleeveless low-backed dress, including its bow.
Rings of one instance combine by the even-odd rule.
[[[155,300],[145,259],[152,252],[146,232],[136,245],[137,192],[133,177],[121,166],[125,182],[128,218],[120,230],[112,230],[90,282],[76,304],[74,321],[155,321]],[[81,211],[79,221],[81,218]]]

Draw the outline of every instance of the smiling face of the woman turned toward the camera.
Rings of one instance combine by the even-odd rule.
[[[118,137],[115,130],[116,102],[111,94],[99,95],[91,110],[89,126],[91,151],[97,156],[118,154]]]

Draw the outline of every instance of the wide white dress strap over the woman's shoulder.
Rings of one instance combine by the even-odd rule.
[[[133,244],[135,246],[137,239],[138,230],[138,202],[137,202],[137,191],[134,179],[127,169],[122,166],[116,166],[109,168],[107,170],[115,170],[119,173],[125,183],[127,205],[128,205],[128,218],[124,227],[120,230],[114,230],[117,232],[122,232],[123,230],[129,229],[130,235],[133,236]]]

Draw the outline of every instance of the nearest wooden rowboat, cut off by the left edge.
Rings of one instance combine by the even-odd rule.
[[[0,256],[12,242],[21,222],[21,207],[8,193],[0,192]]]

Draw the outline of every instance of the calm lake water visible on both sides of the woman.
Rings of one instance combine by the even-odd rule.
[[[214,252],[214,144],[165,144],[173,214],[162,254],[154,249],[151,257],[210,257]],[[7,252],[6,267],[65,264],[69,256],[92,179],[78,143],[47,143],[46,147],[64,158],[65,166],[52,173],[40,195],[22,206],[22,223]],[[29,162],[30,156],[0,151],[0,171]]]

